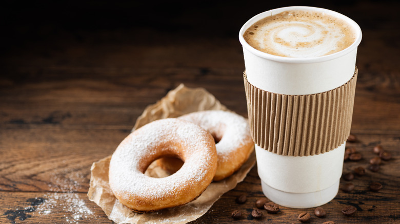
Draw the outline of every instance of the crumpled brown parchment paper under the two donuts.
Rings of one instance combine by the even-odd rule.
[[[227,110],[213,95],[203,88],[187,88],[183,84],[170,91],[157,103],[148,106],[137,119],[133,129],[162,118],[178,117],[199,110]],[[255,164],[255,153],[234,174],[222,181],[212,182],[207,189],[190,203],[151,213],[135,213],[119,203],[108,184],[108,166],[111,156],[94,162],[91,167],[88,197],[103,209],[107,217],[116,223],[187,223],[204,215],[224,193],[242,182]],[[169,174],[152,163],[146,174],[165,177]]]

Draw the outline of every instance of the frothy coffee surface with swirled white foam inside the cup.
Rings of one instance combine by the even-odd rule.
[[[294,58],[333,54],[349,47],[356,38],[343,19],[306,10],[263,18],[247,29],[243,37],[259,51]]]

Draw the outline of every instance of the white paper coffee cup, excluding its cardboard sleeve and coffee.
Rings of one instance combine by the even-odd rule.
[[[313,58],[275,56],[254,49],[245,41],[244,32],[256,21],[287,10],[318,11],[340,18],[353,28],[356,39],[342,51]],[[354,75],[357,47],[361,38],[361,29],[347,16],[327,9],[304,6],[263,12],[248,20],[239,32],[248,82],[256,88],[282,95],[319,94],[349,82]],[[258,174],[264,194],[275,203],[292,208],[310,208],[328,203],[338,192],[345,145],[343,141],[325,153],[288,156],[270,152],[256,144]]]

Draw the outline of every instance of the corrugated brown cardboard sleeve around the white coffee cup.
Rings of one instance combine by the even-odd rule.
[[[328,152],[348,138],[357,68],[342,86],[311,95],[275,94],[252,85],[244,72],[250,131],[255,144],[279,155]]]

